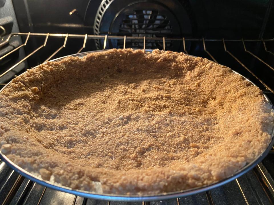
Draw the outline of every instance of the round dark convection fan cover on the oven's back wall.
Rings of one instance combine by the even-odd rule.
[[[179,20],[180,19],[180,20]],[[94,20],[95,35],[134,37],[177,37],[192,33],[188,10],[177,0],[132,1],[103,0]],[[143,48],[144,40],[126,40],[126,48]],[[95,40],[102,49],[103,40]],[[166,50],[179,50],[181,43],[165,41]],[[108,40],[107,48],[123,48],[124,40]],[[162,49],[162,40],[146,39],[147,49]]]

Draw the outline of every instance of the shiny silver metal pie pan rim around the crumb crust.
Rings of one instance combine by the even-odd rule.
[[[83,56],[86,56],[89,53],[102,52],[102,51],[106,51],[106,50],[83,52],[83,53],[72,54],[72,55],[68,55],[68,56],[78,56],[78,57],[82,58]],[[145,51],[146,52],[152,52],[152,50],[147,50],[147,49]],[[51,61],[60,61],[60,60],[63,60],[64,58],[66,58],[68,56],[64,56],[64,57],[61,57],[61,58],[56,58],[56,59],[51,60]],[[194,57],[196,57],[196,56],[194,56]],[[240,75],[236,71],[233,71],[233,72],[235,72],[236,74]],[[242,76],[242,77],[244,77],[244,76]],[[244,77],[244,78],[247,81],[251,82],[246,77]],[[11,83],[11,82],[9,82],[9,83]],[[7,85],[9,85],[9,83]],[[252,83],[252,84],[255,85],[254,83]],[[5,87],[3,87],[0,90],[0,93],[7,87],[7,85],[5,85]],[[265,94],[264,94],[264,97],[265,97],[266,101],[273,108],[273,104],[271,103],[271,101],[269,100],[269,98]],[[66,186],[59,185],[57,183],[51,183],[49,181],[43,180],[43,179],[41,179],[41,178],[39,178],[39,177],[37,177],[37,176],[29,173],[28,171],[22,169],[21,167],[19,167],[15,163],[13,163],[3,153],[1,153],[1,151],[0,151],[0,158],[7,165],[9,165],[9,167],[11,167],[15,171],[17,171],[23,177],[25,177],[27,179],[30,179],[30,180],[32,180],[32,181],[34,181],[34,182],[36,182],[36,183],[38,183],[40,185],[46,186],[48,188],[55,189],[55,190],[62,191],[62,192],[67,192],[69,194],[74,194],[74,195],[82,196],[82,197],[86,197],[86,198],[94,198],[94,199],[98,199],[98,200],[112,200],[112,201],[154,201],[154,200],[166,200],[166,199],[171,199],[171,198],[180,198],[180,197],[184,197],[184,196],[188,196],[188,195],[192,195],[192,194],[198,194],[200,192],[204,192],[204,191],[207,191],[207,190],[210,190],[210,189],[213,189],[213,188],[225,185],[225,184],[227,184],[227,183],[235,180],[236,178],[240,177],[241,175],[247,173],[252,168],[254,168],[258,163],[260,163],[266,157],[266,155],[268,154],[268,152],[271,150],[271,147],[274,144],[274,137],[273,137],[273,135],[274,135],[274,127],[272,128],[271,142],[268,145],[267,149],[261,155],[257,156],[252,162],[248,163],[247,165],[245,165],[244,167],[242,167],[241,169],[239,169],[236,173],[234,173],[230,177],[227,177],[226,179],[223,179],[223,180],[218,181],[216,183],[213,183],[211,185],[205,185],[205,186],[195,187],[195,188],[191,188],[191,189],[187,189],[187,190],[176,191],[176,192],[166,192],[166,193],[161,193],[161,194],[117,195],[117,194],[98,194],[96,192],[76,190],[76,189],[72,189],[72,188],[69,188],[69,187],[66,187]]]

